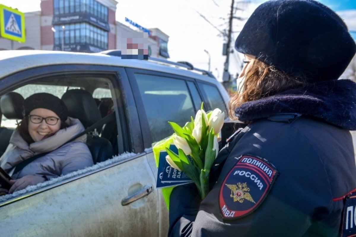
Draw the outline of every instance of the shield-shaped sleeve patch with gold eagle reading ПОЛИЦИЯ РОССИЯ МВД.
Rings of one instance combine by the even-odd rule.
[[[278,175],[267,160],[242,155],[227,173],[219,192],[219,208],[224,220],[244,217],[266,198]]]

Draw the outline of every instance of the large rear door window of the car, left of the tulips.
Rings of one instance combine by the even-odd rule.
[[[173,133],[168,121],[184,126],[190,116],[194,116],[192,97],[185,80],[138,73],[135,73],[135,77],[145,106],[152,142]]]

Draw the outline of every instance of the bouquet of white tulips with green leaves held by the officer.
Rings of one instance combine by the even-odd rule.
[[[219,152],[218,136],[224,117],[225,113],[220,109],[206,114],[201,104],[195,119],[191,117],[184,127],[169,122],[174,130],[173,135],[153,146],[155,157],[163,148],[167,151],[166,161],[195,183],[202,199],[209,192],[209,173]],[[172,143],[178,148],[178,154],[169,149]]]

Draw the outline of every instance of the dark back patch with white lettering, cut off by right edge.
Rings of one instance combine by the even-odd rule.
[[[345,199],[344,216],[342,220],[341,236],[356,236],[356,192],[347,195]]]

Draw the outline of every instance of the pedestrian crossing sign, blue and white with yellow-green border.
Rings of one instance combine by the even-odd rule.
[[[23,12],[0,4],[0,35],[9,40],[24,43],[26,36]]]

